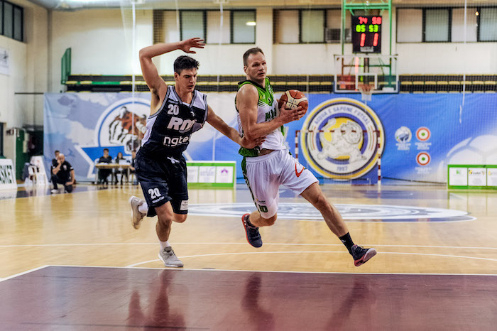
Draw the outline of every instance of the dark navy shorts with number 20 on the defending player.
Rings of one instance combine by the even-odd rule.
[[[147,158],[138,151],[135,171],[148,205],[147,216],[157,215],[155,207],[160,207],[169,201],[176,214],[188,213],[185,158],[168,156],[162,160],[156,160]]]

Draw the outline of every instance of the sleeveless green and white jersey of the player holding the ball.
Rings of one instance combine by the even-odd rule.
[[[266,77],[266,87],[262,87],[251,80],[245,80],[244,82],[239,82],[238,89],[247,84],[255,86],[259,94],[257,102],[257,123],[263,123],[275,119],[280,114],[280,109],[278,108],[278,102],[274,98],[273,87],[271,87],[268,77]],[[238,131],[241,136],[244,136],[244,129],[241,127],[238,109],[236,109],[236,112],[238,113]],[[285,137],[283,136],[283,132],[283,126],[280,126],[280,128],[275,129],[266,135],[266,141],[264,141],[261,146],[253,149],[242,147],[240,148],[239,153],[242,156],[258,156],[258,151],[262,148],[275,150],[286,149],[286,146],[284,145]]]

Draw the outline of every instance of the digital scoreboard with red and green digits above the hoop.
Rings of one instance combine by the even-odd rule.
[[[381,53],[381,16],[352,16],[352,52]]]

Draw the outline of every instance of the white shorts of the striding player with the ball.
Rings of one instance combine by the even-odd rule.
[[[256,202],[258,211],[266,219],[278,212],[280,185],[300,195],[318,182],[315,175],[288,153],[288,149],[254,158],[246,157],[245,163],[245,167],[242,163],[245,181],[251,190],[253,202]]]

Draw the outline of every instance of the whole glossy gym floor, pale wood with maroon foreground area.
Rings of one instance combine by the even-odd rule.
[[[71,194],[0,191],[0,324],[6,330],[492,330],[497,323],[497,193],[324,185],[360,267],[301,197],[247,244],[244,185],[190,190],[158,260],[155,219],[131,227],[138,186]]]

